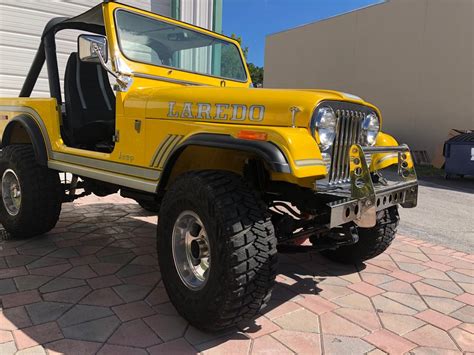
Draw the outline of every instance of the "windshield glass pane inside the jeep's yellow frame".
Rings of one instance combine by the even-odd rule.
[[[125,10],[116,12],[116,26],[120,48],[130,60],[247,80],[240,51],[231,42]]]

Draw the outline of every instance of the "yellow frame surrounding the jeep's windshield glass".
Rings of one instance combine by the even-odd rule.
[[[118,20],[117,20],[117,14],[118,14],[119,11],[128,12],[128,13],[138,15],[138,16],[142,16],[142,17],[147,17],[147,18],[150,18],[150,19],[155,20],[155,21],[162,21],[162,22],[168,23],[168,24],[176,26],[176,27],[180,27],[180,28],[188,30],[188,31],[191,30],[191,31],[195,31],[195,32],[207,35],[209,37],[213,37],[213,38],[215,38],[219,41],[226,42],[226,43],[229,43],[230,45],[235,46],[235,48],[237,49],[237,52],[239,53],[240,62],[242,64],[242,69],[245,73],[245,80],[238,80],[238,79],[235,79],[235,78],[228,78],[228,77],[225,77],[225,76],[216,76],[216,75],[211,75],[211,74],[205,74],[205,73],[200,73],[200,72],[197,72],[197,71],[181,69],[181,68],[177,68],[177,67],[173,67],[173,66],[169,66],[169,65],[164,65],[164,64],[159,65],[159,64],[156,64],[156,63],[139,61],[139,60],[132,59],[132,58],[128,57],[125,54],[125,52],[122,48],[122,41],[120,39],[120,33],[119,33],[119,28],[120,27],[118,25]],[[205,77],[209,77],[209,78],[221,79],[221,80],[224,80],[224,81],[233,81],[233,82],[236,82],[236,83],[244,83],[244,84],[249,82],[248,68],[247,68],[246,61],[244,61],[244,59],[243,59],[244,57],[243,57],[243,53],[242,53],[242,48],[240,47],[240,45],[237,45],[236,43],[234,43],[234,40],[232,38],[227,39],[225,36],[219,35],[219,34],[216,36],[216,35],[214,35],[215,32],[212,32],[211,30],[201,29],[200,27],[197,27],[197,26],[194,26],[194,25],[191,25],[191,24],[189,24],[189,27],[186,26],[186,24],[184,24],[184,23],[183,23],[183,25],[177,24],[177,23],[174,23],[174,21],[180,22],[179,20],[174,20],[173,19],[174,21],[170,21],[171,19],[167,20],[166,17],[164,17],[162,15],[158,15],[158,14],[157,14],[157,16],[160,17],[159,19],[155,18],[154,16],[150,16],[148,14],[143,14],[143,13],[132,11],[132,10],[122,8],[122,7],[116,8],[113,13],[114,13],[114,26],[115,26],[115,36],[117,38],[117,46],[120,50],[120,53],[127,60],[129,60],[131,62],[134,62],[134,63],[144,64],[144,65],[151,65],[153,67],[171,69],[171,70],[176,70],[178,72],[196,74],[196,75],[201,75],[201,76],[205,76]],[[210,32],[210,33],[208,33],[208,32]]]

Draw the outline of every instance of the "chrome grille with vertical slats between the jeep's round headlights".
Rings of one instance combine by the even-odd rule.
[[[358,144],[365,113],[357,110],[335,110],[337,134],[331,154],[329,184],[339,185],[350,181],[349,148]]]

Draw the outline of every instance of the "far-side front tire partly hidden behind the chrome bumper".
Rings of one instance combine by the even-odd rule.
[[[373,228],[358,228],[359,241],[335,250],[321,252],[330,260],[343,264],[357,264],[382,254],[392,243],[397,233],[397,206],[377,212],[377,224]]]

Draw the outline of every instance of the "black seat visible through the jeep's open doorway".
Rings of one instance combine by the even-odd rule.
[[[112,144],[115,132],[115,95],[100,64],[85,63],[72,53],[64,77],[67,141],[74,147],[96,150]]]

